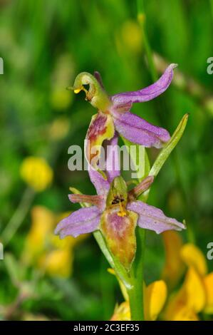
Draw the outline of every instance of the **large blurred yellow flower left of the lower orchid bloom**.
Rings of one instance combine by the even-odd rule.
[[[55,215],[43,206],[35,206],[31,211],[32,224],[26,237],[23,261],[34,265],[52,277],[69,277],[73,270],[73,248],[85,239],[87,234],[80,237],[58,239],[53,234],[54,229],[63,217]]]

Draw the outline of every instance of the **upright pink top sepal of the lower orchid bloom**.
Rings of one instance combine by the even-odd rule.
[[[118,157],[118,133],[111,140],[105,140],[105,173],[108,182],[112,182],[120,175],[120,162]]]

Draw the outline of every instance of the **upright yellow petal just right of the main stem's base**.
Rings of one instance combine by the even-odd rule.
[[[163,280],[145,287],[145,320],[155,321],[167,299],[167,286]]]

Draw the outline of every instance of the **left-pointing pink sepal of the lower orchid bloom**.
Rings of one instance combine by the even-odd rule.
[[[58,223],[55,234],[60,234],[61,239],[69,235],[77,237],[97,230],[99,222],[100,211],[97,207],[80,208]]]

